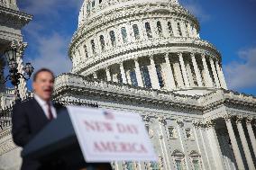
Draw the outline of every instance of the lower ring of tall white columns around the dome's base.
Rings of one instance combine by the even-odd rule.
[[[105,67],[104,71],[104,78],[102,74],[98,77],[97,71],[94,78],[168,91],[196,86],[227,88],[219,61],[198,53],[165,53],[157,57],[150,55],[144,60],[134,58]],[[131,72],[135,76],[131,76]]]

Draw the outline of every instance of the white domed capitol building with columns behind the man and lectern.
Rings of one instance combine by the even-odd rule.
[[[177,0],[83,3],[54,100],[140,113],[159,157],[114,170],[255,170],[256,98],[228,90],[222,56],[199,31]],[[6,170],[20,162],[10,126],[0,131]]]

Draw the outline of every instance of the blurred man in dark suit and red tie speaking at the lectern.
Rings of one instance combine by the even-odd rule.
[[[24,147],[51,120],[56,119],[62,108],[51,102],[54,75],[50,69],[41,68],[33,76],[34,98],[16,103],[13,110],[13,139],[19,147]],[[39,162],[24,158],[22,170],[39,170]]]

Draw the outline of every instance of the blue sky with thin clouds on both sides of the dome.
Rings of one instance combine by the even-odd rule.
[[[223,55],[228,86],[256,95],[256,0],[180,0],[200,21],[200,36]],[[49,67],[58,75],[69,72],[67,48],[77,29],[81,0],[23,0],[22,11],[33,15],[24,29],[29,43],[26,61]]]

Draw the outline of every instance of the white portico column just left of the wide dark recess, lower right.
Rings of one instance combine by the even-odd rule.
[[[215,167],[218,170],[224,170],[224,161],[222,158],[221,148],[218,142],[217,134],[215,131],[215,122],[207,122],[207,136],[209,138],[209,144],[211,145],[212,153],[214,155]]]

